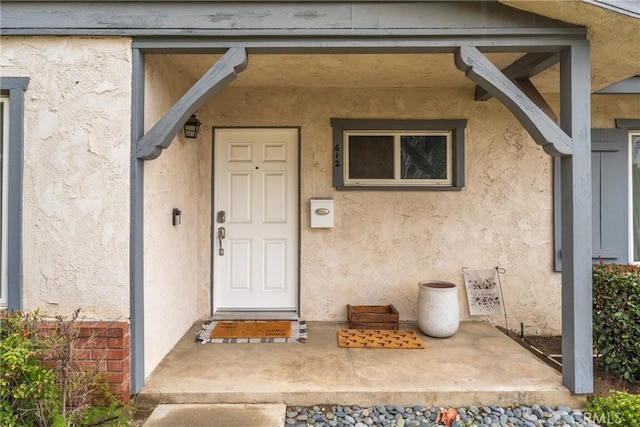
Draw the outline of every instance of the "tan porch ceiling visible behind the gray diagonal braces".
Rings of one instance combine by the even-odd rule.
[[[498,68],[522,54],[493,53],[487,57]],[[219,58],[210,54],[153,55],[192,81],[200,78]],[[552,69],[553,70],[553,69]],[[558,75],[543,72],[534,82],[542,93],[558,91]],[[465,88],[474,84],[454,65],[451,54],[253,54],[246,71],[232,86],[294,87],[422,87]]]

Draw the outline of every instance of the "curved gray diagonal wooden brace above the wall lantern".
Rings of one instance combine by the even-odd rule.
[[[246,51],[242,48],[229,49],[149,132],[138,140],[137,158],[151,160],[158,157],[163,149],[171,145],[189,117],[246,68]]]

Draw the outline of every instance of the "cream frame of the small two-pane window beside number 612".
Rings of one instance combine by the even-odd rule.
[[[362,179],[349,177],[349,137],[351,136],[392,136],[393,137],[393,179]],[[445,179],[408,179],[401,177],[402,136],[444,136],[447,142],[447,177]],[[453,135],[451,131],[416,130],[375,130],[344,132],[344,184],[349,186],[451,186],[453,182]]]

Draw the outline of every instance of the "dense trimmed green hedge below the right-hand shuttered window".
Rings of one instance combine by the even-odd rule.
[[[601,369],[640,381],[640,267],[593,267],[593,339]]]

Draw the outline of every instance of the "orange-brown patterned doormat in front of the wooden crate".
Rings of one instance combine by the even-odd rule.
[[[420,349],[424,343],[414,331],[342,329],[338,347]]]

